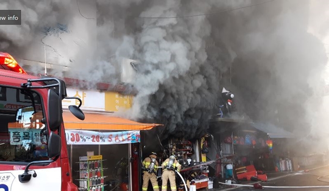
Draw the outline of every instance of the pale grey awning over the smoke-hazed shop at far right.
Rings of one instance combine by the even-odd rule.
[[[253,123],[252,126],[259,131],[265,132],[270,138],[293,138],[294,134],[272,124]]]

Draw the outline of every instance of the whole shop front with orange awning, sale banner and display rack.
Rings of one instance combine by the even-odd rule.
[[[111,114],[88,112],[85,112],[85,120],[80,121],[68,111],[63,112],[63,120],[72,176],[77,186],[90,187],[87,181],[80,181],[85,180],[81,178],[85,175],[80,172],[86,172],[86,169],[81,170],[80,164],[86,163],[84,160],[86,161],[88,156],[94,156],[97,158],[98,169],[102,171],[101,175],[104,177],[102,181],[105,190],[140,190],[141,176],[138,173],[141,161],[140,131],[150,130],[160,126],[159,124],[138,123],[112,117]],[[95,179],[93,174],[91,177]],[[92,181],[91,184],[93,185]],[[81,189],[81,191],[89,190]]]

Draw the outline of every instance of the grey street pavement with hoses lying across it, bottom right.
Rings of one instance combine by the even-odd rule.
[[[264,188],[266,191],[329,191],[329,176],[326,175],[329,175],[329,165],[305,167],[298,172],[267,173],[267,182],[241,181],[239,184],[243,186],[240,187],[220,185],[220,188],[210,189],[209,191],[257,191],[258,189],[254,189],[252,186],[254,183],[260,183],[265,187],[273,187]],[[320,176],[326,177],[319,178]],[[301,186],[309,188],[291,188]],[[312,188],[312,186],[327,186],[327,188]]]

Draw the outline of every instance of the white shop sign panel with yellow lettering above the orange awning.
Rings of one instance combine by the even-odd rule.
[[[82,90],[75,88],[66,89],[68,97],[78,97],[82,101],[80,109],[105,111],[105,93],[93,90]],[[68,108],[69,105],[79,105],[76,99],[64,99],[62,101],[63,108]]]

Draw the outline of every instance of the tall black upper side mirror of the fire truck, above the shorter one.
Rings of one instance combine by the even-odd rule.
[[[49,129],[56,131],[60,128],[62,123],[61,118],[61,99],[60,96],[53,89],[48,90],[48,122]]]

